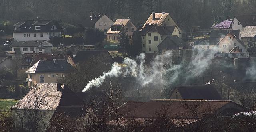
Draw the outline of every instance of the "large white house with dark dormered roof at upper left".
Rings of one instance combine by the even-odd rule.
[[[20,20],[13,26],[16,41],[49,41],[51,37],[61,37],[61,27],[56,20]]]

